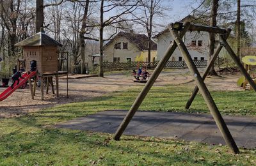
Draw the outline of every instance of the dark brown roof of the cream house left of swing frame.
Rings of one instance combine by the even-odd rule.
[[[113,41],[115,41],[116,38],[119,37],[125,37],[127,40],[129,40],[131,43],[134,43],[140,50],[147,50],[148,49],[148,37],[145,34],[135,34],[135,33],[125,33],[125,32],[120,32],[116,34],[114,38],[112,38],[104,47],[108,47]],[[151,49],[156,50],[157,49],[157,44],[154,41],[151,42]]]

